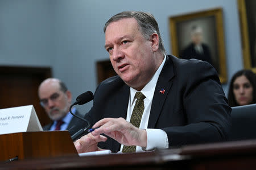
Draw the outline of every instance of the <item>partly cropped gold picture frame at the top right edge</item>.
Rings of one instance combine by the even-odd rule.
[[[243,67],[256,73],[256,2],[255,0],[237,0],[237,5],[240,16]],[[247,24],[248,22],[250,24]]]

